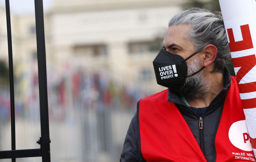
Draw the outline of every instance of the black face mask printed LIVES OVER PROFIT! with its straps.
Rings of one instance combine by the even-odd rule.
[[[157,83],[161,86],[171,88],[173,90],[178,90],[181,88],[185,83],[186,77],[195,75],[203,68],[205,68],[205,66],[203,66],[197,72],[187,76],[186,61],[197,53],[198,52],[193,53],[184,60],[179,55],[175,55],[164,49],[161,49],[153,61]]]

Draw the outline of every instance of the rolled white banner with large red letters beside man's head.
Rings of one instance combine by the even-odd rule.
[[[256,1],[219,0],[219,3],[250,142],[256,155]]]

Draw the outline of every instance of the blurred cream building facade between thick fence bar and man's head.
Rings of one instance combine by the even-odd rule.
[[[102,68],[158,91],[152,61],[184,0],[55,0],[48,14],[56,62]],[[59,65],[58,63],[56,65]]]

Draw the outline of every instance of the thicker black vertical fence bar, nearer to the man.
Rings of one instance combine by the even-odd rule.
[[[35,28],[37,33],[38,82],[41,120],[42,162],[50,162],[50,135],[47,97],[45,29],[43,21],[43,1],[35,2]]]

